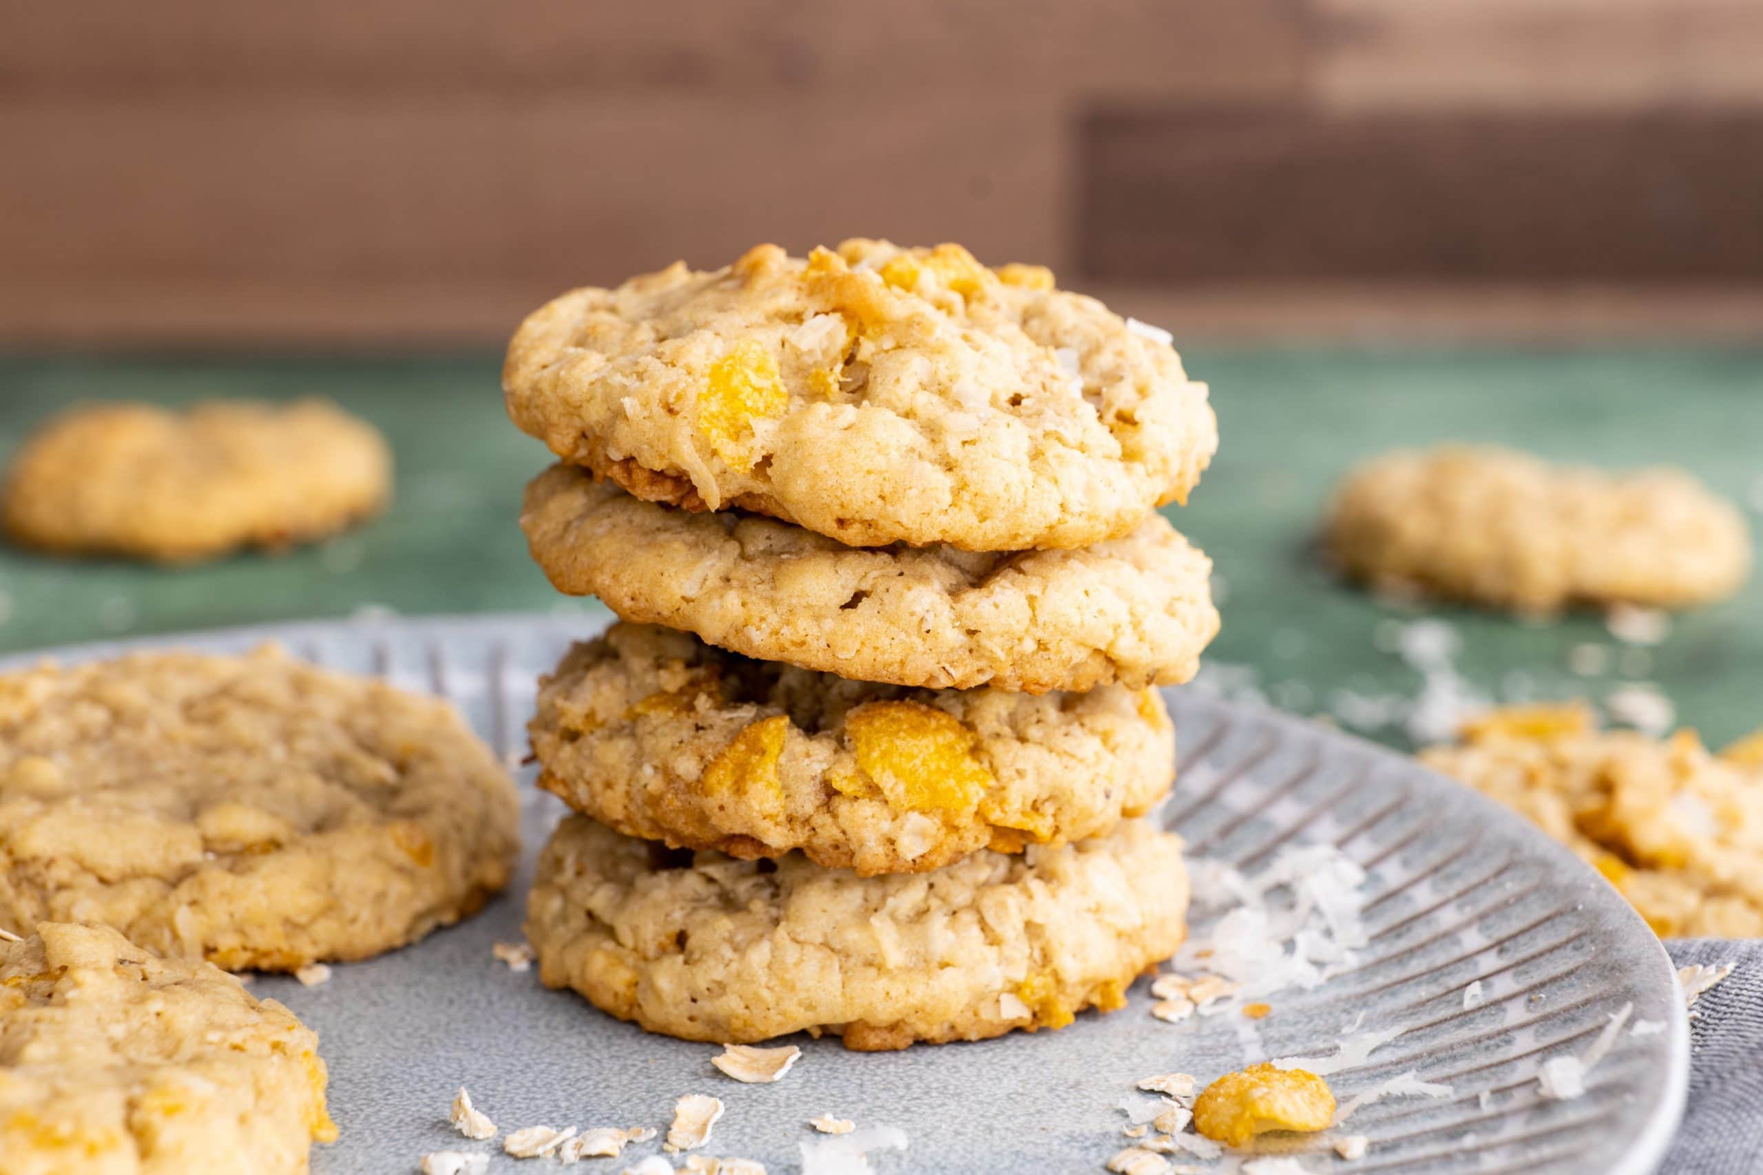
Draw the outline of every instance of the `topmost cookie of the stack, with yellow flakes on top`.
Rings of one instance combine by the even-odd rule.
[[[502,389],[524,432],[638,497],[850,546],[1121,537],[1218,444],[1164,331],[959,245],[760,245],[577,289],[520,326]]]

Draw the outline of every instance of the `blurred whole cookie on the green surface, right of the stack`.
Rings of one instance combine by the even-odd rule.
[[[1751,571],[1744,516],[1682,470],[1604,474],[1458,446],[1356,469],[1328,546],[1358,580],[1532,613],[1700,604]]]

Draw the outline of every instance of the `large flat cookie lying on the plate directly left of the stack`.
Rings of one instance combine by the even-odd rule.
[[[515,787],[451,706],[279,650],[0,675],[0,927],[238,971],[365,958],[508,883]]]

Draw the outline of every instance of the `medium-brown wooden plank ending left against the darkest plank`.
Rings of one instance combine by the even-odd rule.
[[[0,111],[12,282],[518,284],[850,234],[1065,259],[1040,102],[95,100]]]

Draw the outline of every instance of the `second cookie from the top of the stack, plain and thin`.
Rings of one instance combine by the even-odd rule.
[[[1174,685],[1218,632],[1211,562],[1160,516],[1081,551],[848,548],[642,502],[557,465],[520,525],[550,581],[762,661],[927,689]]]

